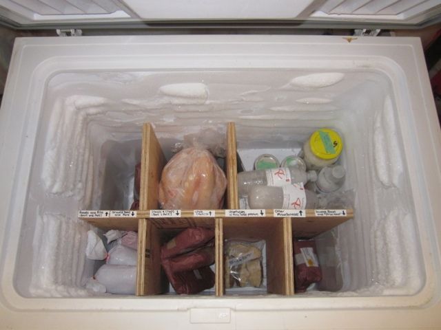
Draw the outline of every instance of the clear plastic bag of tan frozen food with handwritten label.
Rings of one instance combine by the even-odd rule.
[[[226,241],[225,289],[230,287],[262,287],[263,248],[265,241]]]

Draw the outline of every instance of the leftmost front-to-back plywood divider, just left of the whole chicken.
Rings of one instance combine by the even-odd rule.
[[[150,123],[143,126],[141,148],[141,188],[139,210],[158,208],[158,184],[165,156]],[[157,229],[147,219],[139,219],[136,296],[161,293],[161,262]]]

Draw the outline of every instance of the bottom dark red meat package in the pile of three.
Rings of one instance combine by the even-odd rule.
[[[214,287],[214,272],[208,266],[197,270],[172,272],[170,259],[164,260],[162,265],[176,294],[198,294]]]

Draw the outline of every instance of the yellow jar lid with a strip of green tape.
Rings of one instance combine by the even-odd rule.
[[[319,129],[309,137],[312,153],[322,159],[333,159],[340,155],[343,143],[340,135],[332,129]]]

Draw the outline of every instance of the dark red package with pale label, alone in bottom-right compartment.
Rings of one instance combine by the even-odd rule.
[[[322,280],[314,240],[294,240],[294,287],[296,292],[305,292],[312,283]]]

